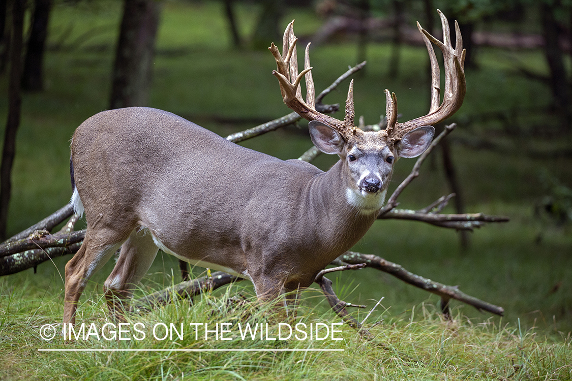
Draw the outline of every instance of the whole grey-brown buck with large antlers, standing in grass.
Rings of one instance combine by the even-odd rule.
[[[271,44],[284,103],[308,119],[317,149],[339,156],[327,171],[236,145],[167,111],[128,107],[83,122],[71,143],[70,203],[78,215],[85,214],[87,228],[80,250],[65,266],[63,322],[75,323],[90,276],[118,249],[104,283],[110,314],[118,319],[159,249],[251,280],[261,303],[309,287],[372,226],[397,159],[422,154],[433,126],[462,105],[466,83],[459,26],[455,22],[453,48],[447,19],[438,12],[443,42],[417,23],[432,67],[430,110],[398,122],[396,96],[385,90],[387,127],[380,131],[354,125],[353,81],[343,121],[316,111],[309,44],[298,73],[293,21],[282,54]],[[442,102],[431,43],[444,57]]]

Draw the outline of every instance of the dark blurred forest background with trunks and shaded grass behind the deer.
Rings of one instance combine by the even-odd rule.
[[[99,111],[157,107],[223,136],[288,114],[267,47],[281,46],[292,19],[300,43],[312,42],[316,90],[367,60],[355,76],[356,113],[366,123],[383,117],[386,88],[398,97],[400,120],[426,114],[430,71],[415,21],[439,37],[436,9],[459,22],[467,96],[449,121],[458,128],[402,194],[402,207],[422,208],[455,192],[450,212],[511,221],[467,236],[380,220],[356,250],[459,284],[505,307],[510,322],[522,319],[565,336],[572,330],[570,0],[3,1],[0,234],[13,235],[69,200],[69,139]],[[324,102],[344,102],[346,86]],[[297,158],[311,145],[306,131],[300,123],[244,145]],[[323,155],[316,165],[327,169],[336,159]],[[412,165],[397,163],[395,185]],[[61,296],[56,274],[67,259],[3,277],[0,298],[14,284],[25,284],[29,298],[46,290]],[[161,277],[171,267],[177,268],[172,258],[158,256],[152,272],[168,275],[152,275],[153,282],[170,284]],[[390,275],[365,270],[339,275],[337,285],[352,302],[385,296],[382,319],[408,315],[416,303],[438,303]]]

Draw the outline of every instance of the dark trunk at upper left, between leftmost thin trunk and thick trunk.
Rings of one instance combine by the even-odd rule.
[[[22,74],[23,90],[43,90],[43,51],[50,10],[51,0],[34,0],[34,15]]]

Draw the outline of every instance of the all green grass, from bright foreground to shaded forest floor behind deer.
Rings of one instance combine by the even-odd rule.
[[[243,35],[253,28],[255,5],[239,6]],[[46,54],[46,91],[25,94],[13,171],[13,198],[9,233],[14,234],[61,207],[69,199],[69,139],[82,121],[108,107],[110,70],[120,2],[58,3],[50,24]],[[240,51],[230,46],[220,2],[164,3],[157,42],[153,89],[149,106],[172,111],[221,135],[252,127],[245,121],[266,121],[288,113],[280,99],[274,63],[268,51]],[[296,32],[311,35],[320,25],[312,14],[294,10]],[[88,38],[89,37],[89,38]],[[356,78],[356,111],[368,123],[384,114],[383,90],[394,91],[400,120],[427,109],[427,53],[403,47],[399,76],[388,78],[391,47],[372,44],[366,74]],[[317,46],[312,50],[316,89],[328,86],[348,65],[354,65],[352,43]],[[422,223],[383,220],[375,223],[356,251],[376,254],[416,274],[455,285],[470,295],[503,306],[504,318],[480,314],[472,307],[452,302],[454,323],[443,322],[436,312],[438,298],[408,286],[391,275],[367,269],[332,274],[340,298],[367,304],[352,310],[362,320],[375,303],[380,306],[367,323],[390,348],[365,342],[349,327],[342,342],[204,342],[181,343],[153,340],[128,343],[74,342],[66,348],[340,348],[344,352],[192,353],[45,353],[38,348],[61,347],[39,338],[42,324],[61,319],[63,266],[69,256],[0,279],[0,379],[570,379],[572,363],[572,242],[570,224],[559,225],[535,207],[549,190],[543,186],[548,173],[572,187],[572,163],[565,157],[537,157],[531,147],[565,147],[570,137],[531,138],[535,129],[550,131],[550,115],[539,113],[549,104],[550,93],[541,83],[515,74],[515,62],[540,73],[546,71],[537,51],[506,53],[479,50],[478,71],[467,71],[468,92],[454,120],[459,127],[451,135],[490,138],[502,150],[474,150],[453,145],[452,153],[467,211],[510,216],[511,222],[486,226],[470,235],[471,246],[461,251],[454,231]],[[6,77],[0,89],[6,93]],[[325,98],[344,102],[347,84]],[[6,118],[0,102],[0,119]],[[476,118],[487,113],[507,116],[504,122]],[[339,115],[338,115],[339,116]],[[217,123],[213,117],[236,119]],[[475,119],[476,118],[476,119]],[[521,139],[505,133],[506,121],[522,130]],[[305,127],[301,125],[302,129]],[[299,157],[310,143],[294,128],[276,131],[244,145],[279,158]],[[322,155],[323,169],[335,158]],[[396,165],[392,187],[410,171],[413,161]],[[428,160],[422,174],[401,196],[402,207],[424,207],[443,194],[448,185],[439,152]],[[448,207],[447,211],[452,211]],[[101,285],[113,261],[90,282],[78,311],[79,322],[104,323],[107,319]],[[158,255],[138,290],[138,296],[178,282],[177,263]],[[195,275],[198,276],[200,269]],[[238,293],[250,295],[249,304],[233,310],[221,307]],[[133,321],[238,322],[245,314],[267,319],[252,308],[252,287],[247,284],[220,290],[196,300],[192,308],[180,302]],[[319,291],[304,293],[299,319],[339,322]],[[371,327],[375,322],[381,322]],[[413,360],[411,360],[413,359]],[[183,374],[184,376],[181,376]]]

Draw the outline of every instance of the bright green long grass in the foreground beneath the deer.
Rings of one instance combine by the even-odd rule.
[[[25,284],[25,286],[31,286]],[[316,323],[340,323],[332,312],[320,311],[313,300],[305,298],[296,320],[307,336],[299,334],[289,340],[266,340],[257,336],[241,338],[240,327],[247,323],[269,323],[268,338],[279,338],[277,323],[256,300],[243,304],[231,302],[229,296],[236,290],[219,295],[205,294],[194,300],[181,300],[149,314],[134,315],[122,338],[108,340],[112,331],[101,332],[108,322],[101,296],[93,293],[80,306],[78,319],[93,324],[97,336],[78,334],[78,339],[63,340],[60,336],[43,341],[38,333],[43,324],[52,323],[61,310],[59,298],[45,295],[30,297],[22,289],[15,290],[6,304],[5,313],[10,320],[0,320],[2,328],[3,374],[18,379],[568,379],[572,360],[570,337],[562,340],[538,336],[534,328],[511,326],[491,321],[472,323],[456,315],[454,322],[443,321],[432,306],[422,304],[407,316],[391,318],[372,327],[375,338],[364,341],[346,324],[335,326],[333,338],[309,339],[304,327]],[[33,316],[30,316],[30,311]],[[283,320],[280,320],[283,321]],[[134,324],[144,332],[135,331]],[[161,326],[153,337],[156,324],[175,323],[178,336],[164,338]],[[205,338],[204,326],[197,334],[190,323],[229,323],[231,331],[221,336],[210,333]],[[181,330],[182,324],[182,330]],[[321,326],[323,328],[323,326]],[[86,329],[89,332],[89,328]],[[198,335],[198,339],[197,336]],[[217,339],[217,337],[219,339]],[[284,337],[284,335],[282,336]],[[321,332],[324,338],[324,332]],[[136,339],[138,338],[138,339]],[[37,349],[130,349],[164,350],[157,352],[38,352]],[[172,350],[202,350],[177,352]],[[208,350],[227,352],[210,352]],[[265,352],[232,350],[264,349]],[[304,352],[276,350],[343,350],[336,352]],[[26,362],[21,361],[25,356]],[[2,373],[0,373],[2,375]]]

